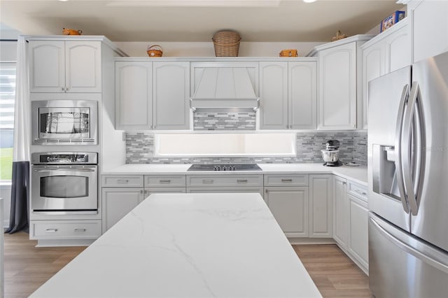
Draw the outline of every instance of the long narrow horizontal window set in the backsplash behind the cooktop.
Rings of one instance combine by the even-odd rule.
[[[155,157],[295,156],[295,134],[155,134]]]

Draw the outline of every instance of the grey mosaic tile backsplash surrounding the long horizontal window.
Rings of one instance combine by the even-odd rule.
[[[255,123],[254,123],[255,125]],[[126,134],[127,164],[205,164],[205,163],[300,163],[323,162],[321,150],[328,140],[337,139],[342,162],[367,164],[367,132],[298,132],[295,157],[154,157],[154,135],[150,132]]]

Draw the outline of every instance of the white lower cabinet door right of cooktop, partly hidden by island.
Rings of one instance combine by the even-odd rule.
[[[308,236],[308,187],[267,187],[265,201],[286,236]]]

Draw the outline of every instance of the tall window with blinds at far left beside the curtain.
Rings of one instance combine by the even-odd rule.
[[[15,63],[0,63],[0,180],[13,170]]]

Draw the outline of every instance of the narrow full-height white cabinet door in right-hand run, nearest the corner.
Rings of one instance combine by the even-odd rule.
[[[333,206],[333,239],[346,250],[349,218],[347,181],[338,176],[333,183]]]

